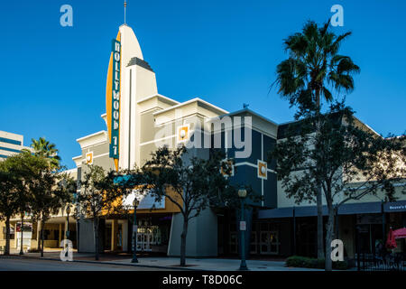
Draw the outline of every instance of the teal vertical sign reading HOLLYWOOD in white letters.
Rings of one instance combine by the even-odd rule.
[[[113,86],[111,107],[111,139],[110,157],[118,159],[118,136],[120,125],[120,67],[121,67],[121,42],[113,40]]]

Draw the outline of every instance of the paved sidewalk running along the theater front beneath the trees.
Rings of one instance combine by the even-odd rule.
[[[2,257],[2,256],[0,256]],[[40,253],[25,253],[23,256],[14,254],[10,257],[41,258]],[[60,260],[60,251],[44,252],[44,259]],[[73,253],[74,262],[101,263],[120,266],[147,266],[151,268],[186,269],[202,271],[235,271],[240,266],[238,259],[225,258],[187,258],[186,267],[180,267],[179,257],[170,256],[138,256],[138,263],[131,263],[128,255],[101,254],[95,261],[94,254]],[[324,271],[320,269],[285,267],[283,261],[247,260],[246,265],[251,271]]]

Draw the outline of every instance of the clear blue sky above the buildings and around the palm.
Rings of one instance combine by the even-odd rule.
[[[73,27],[60,26],[60,6],[73,7]],[[378,133],[406,129],[406,1],[154,0],[128,1],[145,61],[158,91],[185,101],[203,98],[234,111],[243,103],[277,123],[294,108],[270,84],[286,58],[282,39],[312,19],[344,7],[354,34],[342,53],[361,67],[347,97],[356,116]],[[3,1],[0,8],[0,130],[46,137],[62,163],[80,154],[78,137],[106,129],[106,70],[111,39],[124,22],[123,1]]]

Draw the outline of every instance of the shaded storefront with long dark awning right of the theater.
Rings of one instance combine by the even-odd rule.
[[[326,226],[326,206],[323,207],[323,215]],[[274,236],[278,237],[278,242],[275,243],[279,244],[278,255],[317,256],[315,206],[260,210],[258,219],[268,223],[269,228],[275,228],[273,231]],[[390,228],[406,227],[406,200],[343,204],[337,211],[337,226],[335,238],[343,241],[345,256],[355,258],[357,251],[374,254],[377,244],[386,242]],[[288,233],[283,233],[284,231]],[[326,236],[323,239],[325,238]],[[289,244],[291,247],[286,246]],[[405,252],[405,248],[405,240],[398,239],[394,252]]]

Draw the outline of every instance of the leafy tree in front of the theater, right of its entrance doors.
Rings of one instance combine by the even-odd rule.
[[[167,146],[152,153],[152,158],[141,169],[131,172],[128,187],[137,187],[141,193],[150,192],[156,200],[168,198],[183,216],[180,235],[180,266],[186,265],[186,237],[189,220],[198,217],[218,200],[226,201],[227,195],[236,191],[220,172],[231,172],[231,167],[222,162],[224,155],[213,153],[208,160],[187,157],[184,145],[174,150]]]

